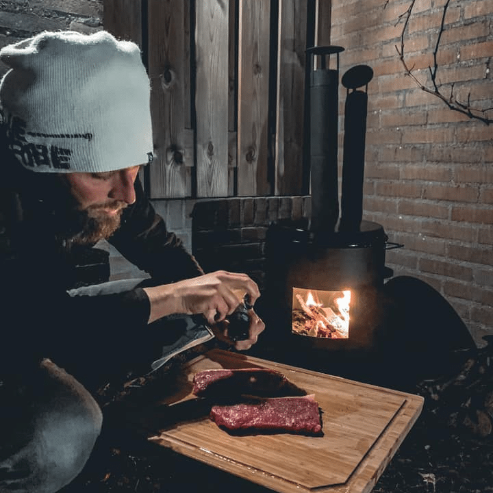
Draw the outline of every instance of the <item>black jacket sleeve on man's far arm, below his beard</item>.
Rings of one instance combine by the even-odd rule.
[[[136,181],[136,203],[127,207],[120,229],[108,240],[129,262],[166,284],[203,274],[184,244],[168,231],[163,218]]]

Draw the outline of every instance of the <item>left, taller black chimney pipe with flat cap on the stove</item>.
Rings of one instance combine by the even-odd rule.
[[[339,219],[338,116],[339,53],[342,47],[307,49],[312,68],[309,81],[310,172],[314,233],[334,231]],[[336,68],[327,68],[326,56],[336,54]],[[320,64],[315,68],[315,57]],[[329,60],[330,61],[330,60]]]

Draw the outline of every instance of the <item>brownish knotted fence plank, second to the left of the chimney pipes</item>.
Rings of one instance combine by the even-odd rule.
[[[238,195],[265,195],[270,1],[240,0],[238,10]]]

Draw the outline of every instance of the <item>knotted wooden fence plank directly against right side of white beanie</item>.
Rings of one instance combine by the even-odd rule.
[[[184,2],[148,0],[149,77],[155,159],[149,168],[153,199],[191,194],[193,147],[185,129]]]

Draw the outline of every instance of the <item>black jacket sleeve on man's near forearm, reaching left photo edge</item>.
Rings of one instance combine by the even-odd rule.
[[[58,264],[2,262],[0,307],[2,375],[22,375],[49,357],[67,369],[112,355],[131,361],[135,340],[147,336],[149,300],[137,288],[118,294],[71,297],[58,282]]]

